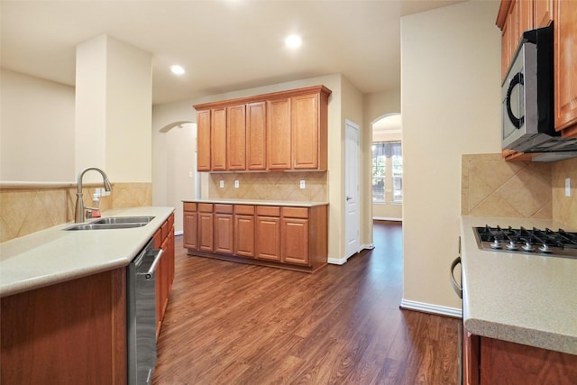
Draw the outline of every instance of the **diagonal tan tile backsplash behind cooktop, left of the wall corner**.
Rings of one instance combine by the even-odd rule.
[[[461,213],[553,218],[552,163],[505,161],[501,154],[462,157]]]

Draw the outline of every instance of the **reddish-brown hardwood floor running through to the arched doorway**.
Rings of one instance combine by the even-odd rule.
[[[402,231],[308,274],[186,254],[154,384],[456,384],[459,320],[400,310]]]

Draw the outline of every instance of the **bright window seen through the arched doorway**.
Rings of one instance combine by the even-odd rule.
[[[372,201],[403,202],[401,142],[372,143]]]

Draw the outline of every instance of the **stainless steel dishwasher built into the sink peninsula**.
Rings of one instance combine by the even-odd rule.
[[[156,267],[162,250],[151,240],[128,265],[128,383],[151,384],[156,365]]]

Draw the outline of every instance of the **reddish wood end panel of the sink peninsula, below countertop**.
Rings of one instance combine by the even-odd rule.
[[[127,381],[126,269],[1,299],[0,383]]]

